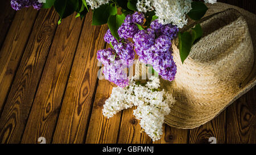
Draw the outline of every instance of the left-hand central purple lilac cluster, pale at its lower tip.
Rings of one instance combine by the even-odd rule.
[[[109,49],[102,49],[97,52],[97,59],[104,65],[105,79],[114,82],[120,87],[128,86],[129,78],[127,77],[127,68],[134,61],[134,43],[129,41],[139,31],[137,24],[143,24],[144,16],[135,12],[127,15],[125,22],[118,29],[121,39],[117,40],[110,30],[105,33],[104,40],[113,46]]]

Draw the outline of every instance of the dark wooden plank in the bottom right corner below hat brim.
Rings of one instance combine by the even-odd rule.
[[[256,87],[227,110],[226,143],[256,143]]]

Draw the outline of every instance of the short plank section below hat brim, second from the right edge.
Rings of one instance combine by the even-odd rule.
[[[222,111],[216,118],[200,127],[190,129],[189,143],[207,143],[209,137],[215,137],[218,144],[225,143],[226,134],[226,110]]]

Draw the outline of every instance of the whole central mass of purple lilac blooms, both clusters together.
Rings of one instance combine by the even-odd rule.
[[[141,26],[144,19],[144,15],[139,12],[127,15],[118,28],[119,40],[110,30],[105,33],[104,40],[113,48],[97,53],[98,60],[104,64],[105,79],[120,87],[129,84],[125,70],[133,64],[135,53],[139,61],[152,65],[162,78],[169,81],[175,78],[176,65],[172,57],[171,40],[177,37],[179,29],[172,24],[160,24],[156,19],[146,30],[139,30],[137,24]]]

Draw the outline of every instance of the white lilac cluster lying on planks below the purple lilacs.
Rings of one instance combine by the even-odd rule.
[[[163,134],[164,116],[170,113],[170,106],[175,102],[171,94],[159,91],[159,86],[159,78],[152,76],[144,86],[131,79],[129,87],[114,87],[102,113],[111,118],[123,109],[138,106],[134,110],[135,118],[140,120],[139,124],[153,141],[159,140]]]

